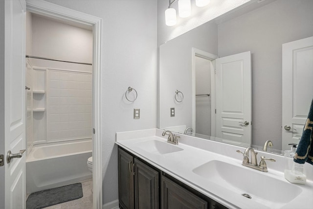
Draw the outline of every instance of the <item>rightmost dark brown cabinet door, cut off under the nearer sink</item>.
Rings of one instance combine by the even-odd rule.
[[[207,209],[207,202],[161,176],[161,209]]]

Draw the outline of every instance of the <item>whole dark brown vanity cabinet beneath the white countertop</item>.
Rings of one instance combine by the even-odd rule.
[[[118,198],[121,209],[227,209],[121,147]]]

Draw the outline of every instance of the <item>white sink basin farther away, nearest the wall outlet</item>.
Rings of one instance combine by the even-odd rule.
[[[177,147],[177,145],[170,144],[168,142],[158,141],[158,140],[149,140],[136,143],[139,149],[144,150],[152,154],[168,154],[173,152],[179,152],[183,150],[182,148]]]

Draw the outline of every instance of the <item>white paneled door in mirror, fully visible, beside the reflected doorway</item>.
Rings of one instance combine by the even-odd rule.
[[[216,59],[216,137],[250,146],[250,51]]]

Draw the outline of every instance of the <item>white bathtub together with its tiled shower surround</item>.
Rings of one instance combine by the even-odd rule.
[[[26,193],[92,178],[91,72],[29,62],[27,72]]]

